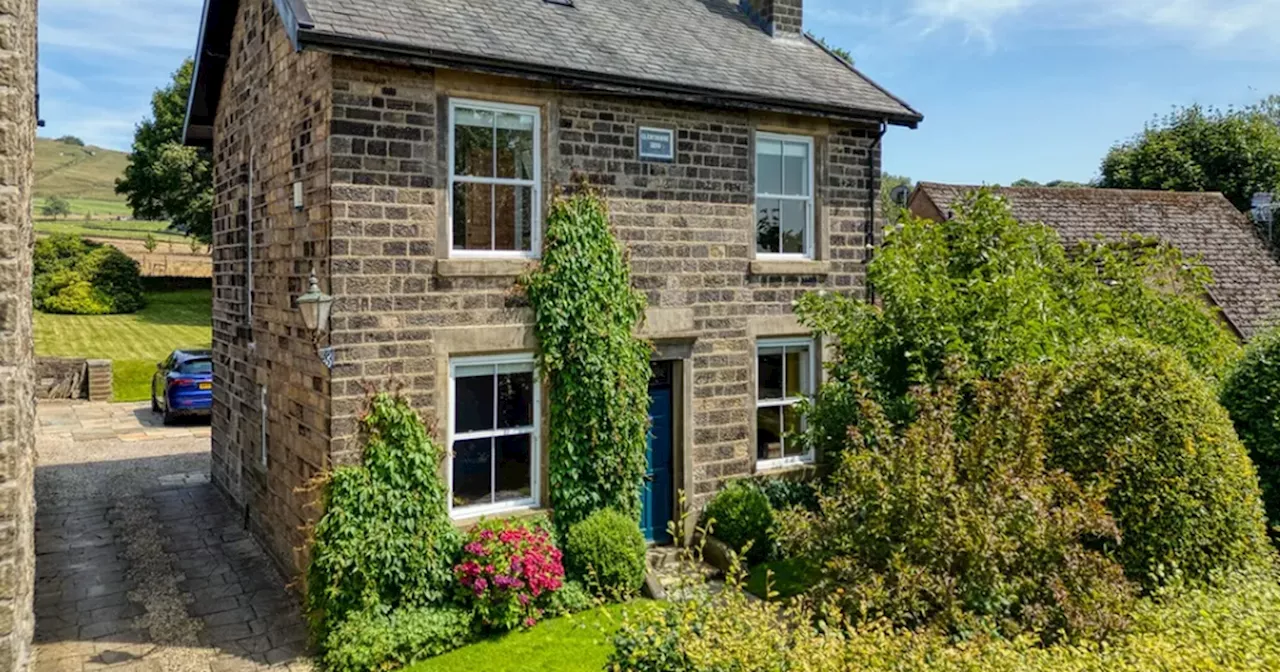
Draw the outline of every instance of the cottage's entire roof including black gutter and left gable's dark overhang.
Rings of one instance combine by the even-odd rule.
[[[298,49],[909,127],[923,119],[812,37],[768,35],[736,0],[274,3]],[[188,142],[207,140],[189,127],[212,123],[237,5],[206,0]]]

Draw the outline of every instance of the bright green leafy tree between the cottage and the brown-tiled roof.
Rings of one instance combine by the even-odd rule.
[[[1217,379],[1239,355],[1201,298],[1207,271],[1176,248],[1130,239],[1069,255],[1052,229],[1019,221],[989,189],[954,209],[947,221],[908,215],[890,230],[868,269],[879,306],[838,293],[800,300],[801,320],[829,335],[838,356],[810,413],[820,447],[845,443],[858,394],[840,381],[855,375],[902,420],[911,415],[908,390],[934,383],[954,357],[992,378],[1135,337],[1178,349]]]

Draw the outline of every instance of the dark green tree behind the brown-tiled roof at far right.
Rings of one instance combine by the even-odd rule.
[[[1280,101],[1242,110],[1192,105],[1156,119],[1102,160],[1108,188],[1217,191],[1240,210],[1280,188]]]

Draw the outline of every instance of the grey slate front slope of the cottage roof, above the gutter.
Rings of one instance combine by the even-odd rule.
[[[920,120],[808,38],[774,38],[733,0],[305,0],[314,33],[625,81]]]

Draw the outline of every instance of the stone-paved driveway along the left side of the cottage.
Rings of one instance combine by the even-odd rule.
[[[35,672],[310,671],[297,598],[209,481],[209,425],[41,402]]]

